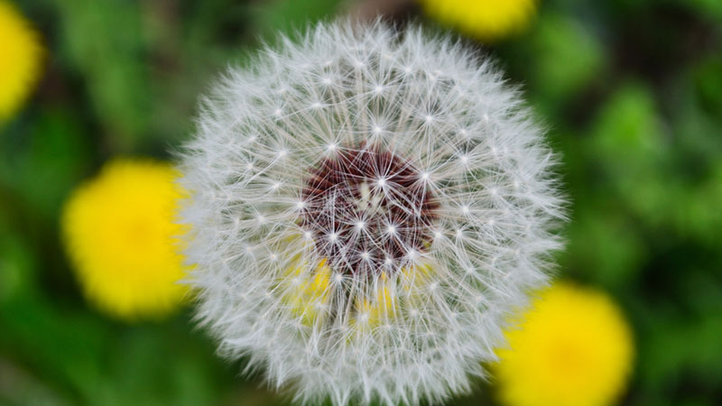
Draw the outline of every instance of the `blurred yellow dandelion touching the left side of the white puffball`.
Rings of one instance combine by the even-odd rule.
[[[134,320],[176,309],[187,290],[173,222],[184,196],[170,165],[116,160],[77,189],[61,226],[83,291],[107,313]]]

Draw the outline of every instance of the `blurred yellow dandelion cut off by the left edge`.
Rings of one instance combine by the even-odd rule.
[[[14,5],[0,0],[0,123],[23,104],[41,69],[40,39]]]

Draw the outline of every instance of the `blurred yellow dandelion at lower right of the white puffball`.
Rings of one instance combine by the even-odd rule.
[[[632,368],[632,332],[604,293],[560,282],[542,291],[494,365],[510,406],[602,406]]]

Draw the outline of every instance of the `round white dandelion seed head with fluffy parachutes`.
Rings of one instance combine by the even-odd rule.
[[[418,28],[325,23],[266,48],[197,133],[198,318],[296,401],[466,392],[560,248],[554,156],[518,92]]]

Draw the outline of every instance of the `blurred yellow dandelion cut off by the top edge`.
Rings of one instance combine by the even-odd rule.
[[[521,31],[536,0],[420,0],[426,14],[485,42]]]

